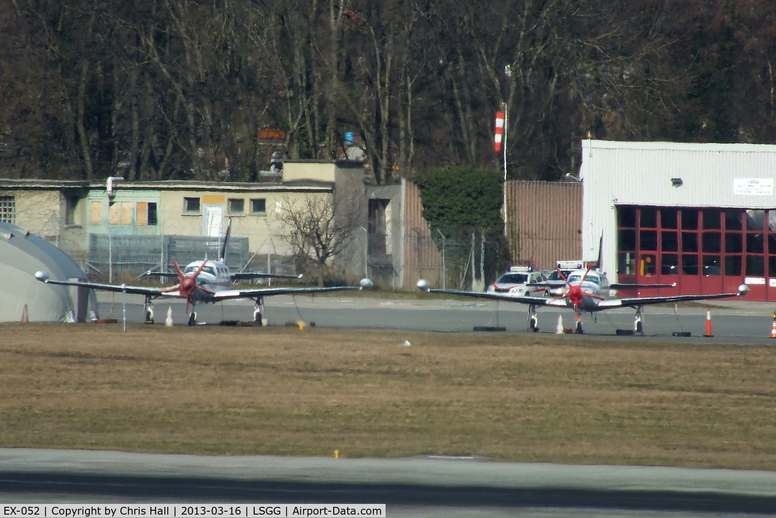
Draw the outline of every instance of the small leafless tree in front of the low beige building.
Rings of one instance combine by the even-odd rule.
[[[290,201],[282,199],[275,217],[286,233],[296,261],[304,271],[315,275],[319,286],[333,268],[332,259],[348,250],[359,228],[360,204],[334,196],[306,196]]]

